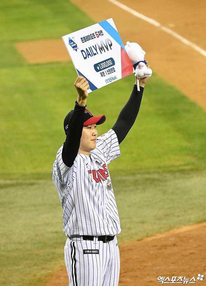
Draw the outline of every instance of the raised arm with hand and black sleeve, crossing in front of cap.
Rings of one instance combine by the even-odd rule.
[[[80,148],[81,134],[84,124],[84,112],[86,100],[88,97],[88,81],[82,76],[78,76],[75,83],[77,90],[77,103],[75,103],[72,116],[69,121],[69,127],[66,133],[66,140],[62,149],[62,160],[67,167],[71,167]]]

